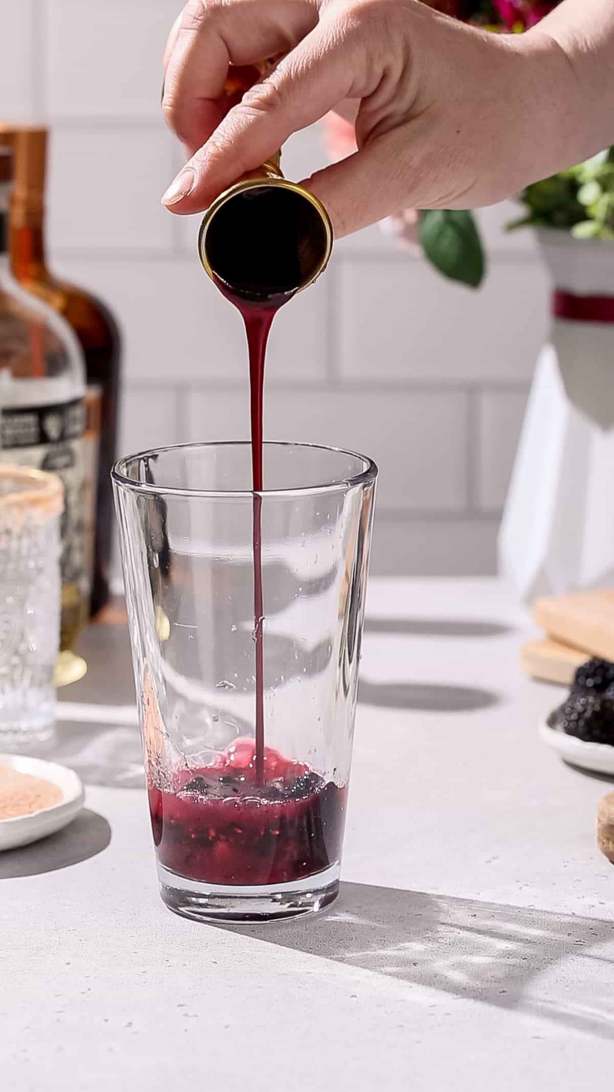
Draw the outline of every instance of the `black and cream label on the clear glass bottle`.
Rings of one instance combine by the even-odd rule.
[[[2,462],[48,471],[62,480],[64,584],[82,584],[85,573],[84,430],[83,399],[43,406],[5,406],[0,415]]]

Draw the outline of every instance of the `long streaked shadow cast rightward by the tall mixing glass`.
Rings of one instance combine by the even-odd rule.
[[[218,927],[614,1040],[611,922],[341,883],[316,917]]]

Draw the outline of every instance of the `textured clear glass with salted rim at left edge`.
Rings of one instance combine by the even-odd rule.
[[[0,750],[53,731],[62,484],[0,465]]]

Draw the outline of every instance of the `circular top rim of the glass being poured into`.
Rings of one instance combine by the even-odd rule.
[[[364,468],[358,474],[338,478],[335,482],[325,482],[305,486],[292,486],[288,489],[188,489],[180,486],[155,485],[151,482],[135,482],[134,478],[129,477],[125,473],[128,463],[133,460],[143,460],[147,456],[159,455],[167,451],[182,451],[188,448],[198,450],[207,448],[250,447],[250,440],[210,440],[196,443],[168,443],[160,448],[149,448],[145,451],[137,451],[132,455],[124,455],[121,459],[118,459],[111,470],[111,479],[113,485],[139,494],[164,495],[166,497],[200,497],[209,500],[219,500],[226,498],[248,499],[254,496],[305,497],[317,494],[340,492],[342,490],[352,489],[356,486],[370,485],[375,482],[378,474],[377,464],[372,459],[369,459],[368,455],[361,455],[358,451],[350,451],[346,448],[334,448],[325,443],[301,443],[292,440],[265,440],[264,448],[302,448],[311,451],[326,451],[340,455],[347,455],[350,459],[357,459],[363,463]]]

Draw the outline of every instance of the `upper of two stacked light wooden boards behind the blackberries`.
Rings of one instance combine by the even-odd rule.
[[[614,591],[535,600],[533,618],[549,638],[614,661]]]

